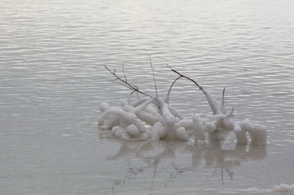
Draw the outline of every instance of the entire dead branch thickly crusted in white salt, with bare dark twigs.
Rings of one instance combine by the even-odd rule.
[[[107,70],[109,70],[107,68]],[[173,69],[172,69],[173,70]],[[109,70],[110,71],[110,70]],[[173,70],[178,73],[177,71]],[[110,71],[111,72],[111,71]],[[111,72],[114,76],[114,73]],[[178,73],[180,77],[188,78]],[[178,77],[178,78],[180,78]],[[133,92],[137,93],[137,100],[121,101],[122,107],[110,107],[107,103],[102,103],[99,107],[101,116],[98,119],[98,125],[102,129],[110,129],[112,134],[125,140],[146,140],[158,141],[159,139],[179,139],[183,141],[189,140],[189,135],[194,135],[195,143],[205,145],[204,132],[211,133],[221,130],[233,131],[237,138],[237,144],[247,144],[248,138],[246,132],[249,133],[251,144],[266,145],[267,129],[263,125],[251,123],[250,120],[241,122],[232,119],[234,108],[227,113],[224,101],[224,91],[222,102],[219,103],[208,91],[199,86],[192,80],[199,89],[204,93],[208,104],[213,111],[212,115],[207,115],[201,119],[200,116],[194,114],[192,120],[186,119],[176,108],[169,105],[170,89],[166,97],[162,100],[158,93],[150,95],[138,90],[125,79],[122,80],[116,76],[122,85]],[[142,97],[146,95],[146,97]],[[154,108],[154,104],[158,109]],[[225,139],[224,135],[220,138]]]

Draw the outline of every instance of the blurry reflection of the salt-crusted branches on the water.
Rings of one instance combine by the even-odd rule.
[[[169,176],[166,178],[164,187],[170,182],[176,181],[179,175],[191,172],[197,174],[201,168],[211,170],[208,174],[209,178],[216,177],[217,172],[221,172],[221,181],[224,185],[224,173],[233,180],[233,167],[242,165],[242,162],[261,161],[267,156],[266,146],[256,145],[235,145],[234,149],[222,149],[222,142],[218,139],[220,133],[213,132],[208,135],[209,145],[197,146],[186,142],[164,141],[160,142],[122,142],[122,146],[117,154],[108,157],[108,160],[128,162],[128,174],[123,178],[114,181],[114,186],[120,187],[121,190],[130,179],[136,179],[138,174],[153,175],[151,181],[151,191],[157,181],[156,173],[160,165],[166,166],[166,162],[170,162],[169,168],[164,169],[169,171]],[[187,159],[187,154],[189,158]],[[180,157],[179,157],[180,156]],[[178,164],[178,159],[185,158],[184,162],[191,162],[190,166],[183,167],[183,164]],[[130,160],[142,160],[147,165],[140,168],[131,168]],[[138,165],[138,164],[137,164]],[[153,172],[150,173],[150,168],[153,167]],[[182,167],[182,168],[180,168]],[[144,172],[144,173],[143,173]]]

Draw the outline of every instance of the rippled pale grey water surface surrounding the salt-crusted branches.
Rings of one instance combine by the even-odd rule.
[[[294,1],[0,3],[0,194],[269,194],[294,183]],[[124,63],[154,93],[149,53],[160,93],[177,77],[166,63],[216,97],[225,87],[238,120],[268,127],[268,145],[236,146],[233,133],[207,147],[101,138],[99,104],[130,93],[101,82],[112,78],[103,66]],[[210,113],[202,99],[186,80],[171,93],[186,117]]]

